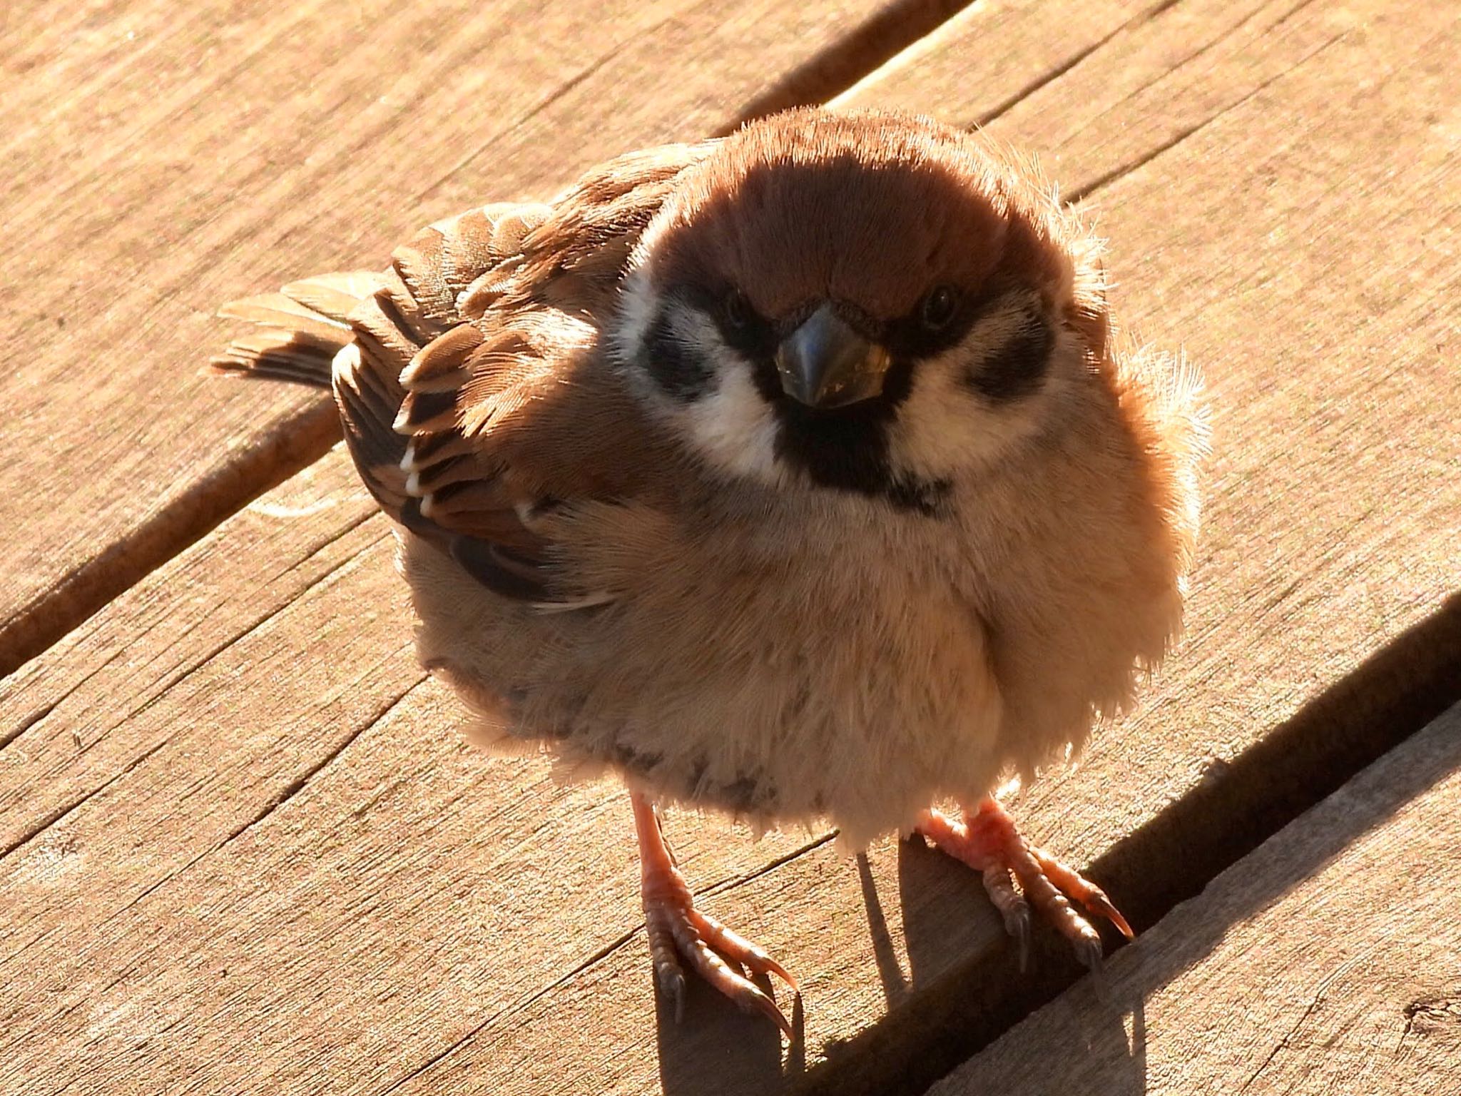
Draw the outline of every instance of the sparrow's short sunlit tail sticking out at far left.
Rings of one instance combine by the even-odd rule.
[[[374,272],[320,275],[281,292],[229,301],[219,316],[257,324],[213,357],[215,373],[330,387],[330,362],[351,342],[349,316],[381,288]]]

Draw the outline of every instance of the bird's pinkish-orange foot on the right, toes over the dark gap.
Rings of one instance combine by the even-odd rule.
[[[1100,963],[1100,937],[1071,907],[1067,896],[1080,902],[1090,913],[1110,921],[1126,940],[1135,935],[1106,897],[1106,891],[1049,853],[1026,845],[1014,818],[993,796],[986,796],[977,811],[966,810],[963,821],[941,811],[925,811],[918,831],[950,856],[983,874],[985,890],[1004,918],[1005,929],[1020,941],[1021,970],[1030,951],[1031,906],[1071,941],[1075,957],[1087,967],[1094,969]]]

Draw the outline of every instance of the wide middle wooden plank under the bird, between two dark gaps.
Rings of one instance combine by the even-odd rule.
[[[1207,368],[1194,639],[1080,770],[1017,804],[1160,909],[1201,869],[1151,855],[1194,795],[1274,792],[1248,758],[1353,685],[1322,770],[1330,739],[1343,753],[1455,665],[1454,628],[1405,644],[1454,618],[1457,589],[1457,208],[1438,200],[1455,193],[1457,26],[1422,3],[1313,3],[1259,34],[1223,4],[1163,4],[1048,80],[991,69],[976,101],[1021,16],[1065,48],[1074,20],[1048,7],[970,9],[853,98],[1002,111],[998,132],[1046,151],[1087,110],[1072,148],[1091,159],[1061,174],[1119,175],[1096,191],[1118,302]],[[957,88],[920,83],[960,57]],[[1151,104],[1091,92],[1129,79],[1166,82],[1145,152],[1122,134]],[[1049,105],[1023,107],[1029,83]],[[843,1067],[900,1071],[929,1017],[967,1005],[970,970],[1020,992],[977,883],[925,849],[884,843],[863,867],[674,817],[709,907],[804,979],[805,1032],[783,1062],[774,1032],[707,994],[684,1029],[656,1024],[622,796],[457,742],[403,653],[383,535],[335,454],[0,685],[0,1090],[825,1089]],[[1381,675],[1367,659],[1391,642],[1413,658]]]

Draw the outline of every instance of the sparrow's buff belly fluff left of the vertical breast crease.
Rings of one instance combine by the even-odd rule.
[[[825,817],[861,842],[988,788],[999,696],[960,530],[806,498],[564,519],[562,566],[614,595],[579,612],[463,596],[408,536],[422,658],[470,682],[489,739],[763,824]]]

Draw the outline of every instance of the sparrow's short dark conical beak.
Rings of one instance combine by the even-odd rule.
[[[824,304],[776,351],[782,390],[808,408],[843,408],[882,392],[888,352]]]

